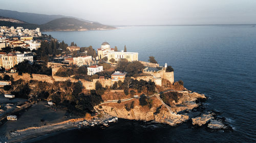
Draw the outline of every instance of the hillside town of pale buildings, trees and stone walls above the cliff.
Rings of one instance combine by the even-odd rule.
[[[139,53],[127,52],[129,47],[126,48],[126,45],[122,48],[111,47],[110,43],[103,42],[95,50],[92,46],[80,47],[75,42],[67,44],[58,41],[51,35],[41,34],[39,28],[27,30],[22,27],[1,27],[0,45],[0,120],[7,118],[15,121],[18,127],[13,127],[15,129],[34,124],[39,126],[39,123],[45,125],[63,121],[64,124],[84,116],[86,118],[80,120],[91,121],[100,117],[97,123],[105,125],[103,121],[106,118],[118,115],[113,115],[112,109],[110,112],[101,111],[101,104],[127,102],[120,109],[130,111],[138,107],[143,108],[141,111],[145,108],[166,112],[162,105],[168,109],[166,104],[178,102],[177,98],[183,91],[188,93],[182,81],[174,81],[172,66],[167,63],[159,65],[153,56],[148,57],[148,61],[139,61]],[[164,91],[173,92],[163,94]],[[196,99],[193,98],[193,101]],[[51,118],[56,120],[47,122],[47,118],[38,115],[33,118],[36,121],[33,125],[31,121],[22,126],[18,123],[24,123],[28,118],[18,113],[28,108],[34,109],[29,110],[30,114],[36,114],[35,109],[41,112],[40,115],[54,113]],[[129,114],[123,117],[136,119],[129,117]],[[173,115],[173,111],[167,114]],[[167,121],[165,116],[158,122],[175,125],[183,121],[182,117],[178,117],[179,120],[174,120],[168,116],[173,119]],[[7,136],[10,138],[19,135],[13,132],[13,128],[8,129]]]

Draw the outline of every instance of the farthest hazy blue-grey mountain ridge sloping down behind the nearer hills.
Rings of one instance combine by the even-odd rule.
[[[76,18],[72,16],[37,14],[37,13],[18,12],[18,11],[12,11],[12,10],[4,10],[4,9],[0,9],[0,16],[15,18],[28,23],[37,24],[37,25],[42,25],[49,21],[62,18],[62,17]],[[76,19],[81,21],[86,21],[86,22],[92,22],[89,20],[81,19],[81,18],[76,18]]]

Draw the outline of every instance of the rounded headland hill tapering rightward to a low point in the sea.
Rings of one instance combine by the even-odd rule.
[[[102,25],[97,22],[86,22],[75,18],[58,18],[40,25],[42,31],[84,31],[115,29],[115,27]]]

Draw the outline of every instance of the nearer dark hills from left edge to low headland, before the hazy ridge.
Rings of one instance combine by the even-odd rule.
[[[0,16],[0,26],[7,27],[23,27],[25,29],[36,29],[39,27],[41,31],[85,31],[85,30],[101,30],[115,29],[115,27],[102,25],[97,22],[86,22],[75,18],[58,18],[49,21],[43,25],[27,23],[22,20]]]

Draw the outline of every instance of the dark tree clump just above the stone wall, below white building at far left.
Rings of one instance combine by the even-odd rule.
[[[48,68],[44,64],[30,64],[27,60],[20,62],[14,66],[18,72],[18,75],[22,75],[23,73],[32,74],[41,74],[41,75],[52,75],[52,69]]]

